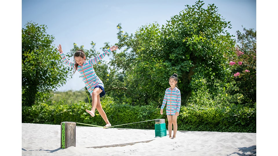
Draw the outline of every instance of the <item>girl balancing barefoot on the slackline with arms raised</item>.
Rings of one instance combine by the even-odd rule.
[[[62,46],[59,44],[57,50],[60,52],[60,55],[62,57],[62,60],[70,67],[74,68],[74,73],[76,70],[80,73],[88,92],[92,96],[92,109],[87,110],[91,116],[95,116],[95,110],[97,109],[100,116],[103,118],[103,120],[106,122],[105,127],[111,126],[101,104],[100,104],[100,97],[105,95],[104,91],[104,84],[99,79],[99,77],[96,75],[95,70],[93,68],[93,65],[96,64],[99,60],[102,60],[107,54],[111,53],[111,51],[114,51],[118,49],[118,46],[113,46],[109,48],[104,53],[90,59],[86,60],[85,53],[82,49],[79,49],[74,53],[74,60],[75,62],[69,61],[65,54],[62,51]]]

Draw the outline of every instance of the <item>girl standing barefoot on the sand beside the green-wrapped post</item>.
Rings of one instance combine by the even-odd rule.
[[[160,109],[160,114],[162,115],[163,108],[167,101],[166,114],[168,119],[169,138],[171,139],[176,138],[176,133],[178,130],[177,118],[180,112],[180,90],[178,89],[177,83],[178,83],[178,75],[173,74],[169,78],[169,84],[171,87],[165,90],[164,99]],[[172,137],[172,125],[174,131],[173,137]]]

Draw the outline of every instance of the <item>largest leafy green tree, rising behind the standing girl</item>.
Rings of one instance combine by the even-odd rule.
[[[214,4],[207,9],[203,5],[200,0],[186,5],[166,25],[145,25],[135,35],[124,33],[118,25],[118,46],[125,50],[114,56],[114,63],[125,71],[127,95],[133,102],[161,103],[173,73],[179,75],[183,104],[191,96],[194,77],[205,79],[211,91],[215,91],[215,80],[226,79],[228,59],[224,55],[231,54],[234,47],[227,32],[231,24],[221,18]]]

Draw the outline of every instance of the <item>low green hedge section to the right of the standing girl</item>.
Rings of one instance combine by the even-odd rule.
[[[178,130],[256,133],[256,108],[240,105],[181,107]]]

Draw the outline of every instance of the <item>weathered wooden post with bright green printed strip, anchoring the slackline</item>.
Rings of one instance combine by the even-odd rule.
[[[61,148],[75,147],[76,122],[61,122]]]

